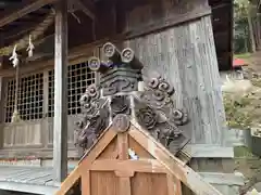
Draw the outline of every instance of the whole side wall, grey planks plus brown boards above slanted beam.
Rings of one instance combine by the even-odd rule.
[[[225,114],[220,89],[211,11],[207,0],[138,6],[127,13],[130,47],[146,66],[176,89],[177,107],[188,109],[192,143],[222,144]]]

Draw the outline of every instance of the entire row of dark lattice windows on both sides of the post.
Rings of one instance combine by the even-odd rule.
[[[96,75],[87,66],[87,62],[70,65],[67,68],[67,112],[69,115],[80,113],[78,100],[86,87],[94,83]],[[11,122],[14,110],[15,79],[7,83],[5,122]],[[46,92],[45,92],[46,93]],[[54,69],[48,72],[48,100],[44,100],[44,73],[24,76],[20,79],[18,112],[23,120],[42,118],[44,102],[48,101],[48,117],[54,115]]]

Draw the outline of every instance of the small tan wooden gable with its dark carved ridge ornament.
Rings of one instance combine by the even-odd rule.
[[[178,129],[187,115],[174,107],[174,89],[159,77],[138,91],[142,66],[133,51],[120,54],[111,43],[103,50],[110,62],[89,62],[101,73],[101,83],[80,99],[83,120],[75,136],[86,154],[57,195],[75,183],[83,195],[182,195],[182,183],[199,195],[221,195],[174,156],[189,141]]]

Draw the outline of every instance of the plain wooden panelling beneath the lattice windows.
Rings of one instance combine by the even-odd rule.
[[[77,116],[69,116],[69,156],[78,157],[74,146],[74,123]],[[0,128],[0,158],[35,156],[52,158],[53,118],[2,123]]]

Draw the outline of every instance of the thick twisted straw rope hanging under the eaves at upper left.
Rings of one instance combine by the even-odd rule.
[[[46,30],[47,28],[53,24],[54,22],[54,16],[55,16],[55,11],[52,9],[50,11],[50,13],[47,14],[47,16],[45,17],[45,20],[35,27],[34,30],[32,30],[29,32],[30,35],[30,41],[34,41],[36,39],[38,39]],[[28,42],[29,42],[29,36],[26,35],[24,36],[22,39],[20,39],[18,41],[15,41],[14,43],[1,48],[0,49],[0,56],[8,56],[13,52],[13,48],[16,46],[16,50],[22,50],[22,49],[26,49],[28,47]]]

